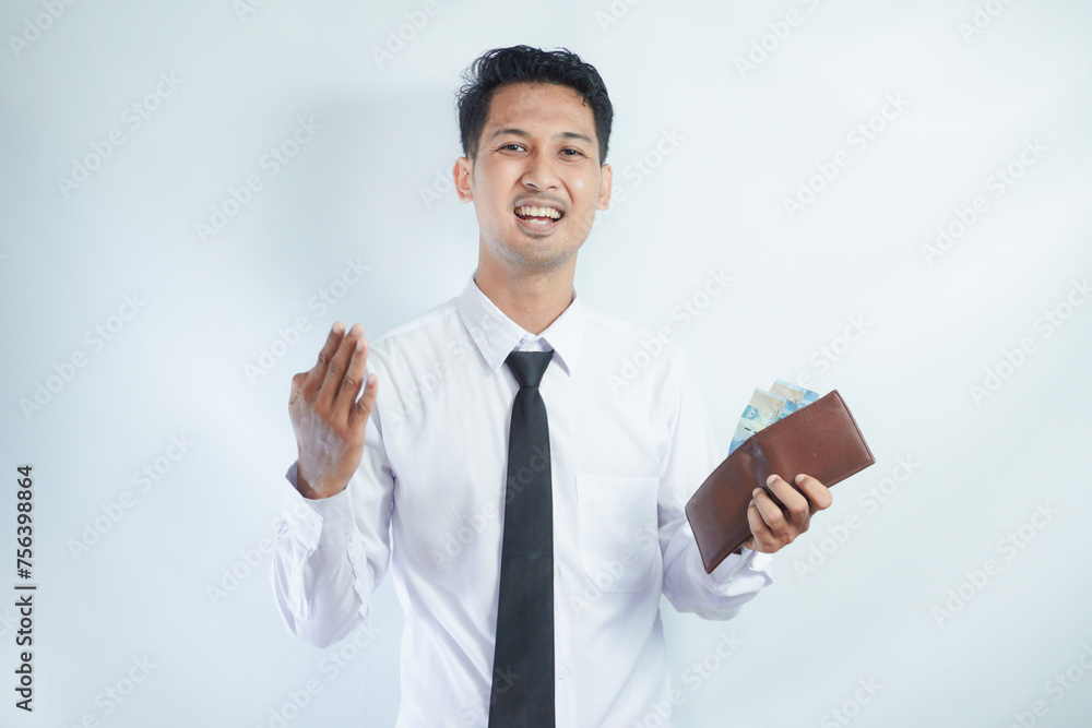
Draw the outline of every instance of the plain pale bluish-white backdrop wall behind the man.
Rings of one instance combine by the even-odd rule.
[[[378,336],[462,289],[454,92],[525,43],[596,65],[616,109],[580,295],[673,327],[725,452],[755,386],[803,377],[877,458],[738,618],[665,602],[677,725],[1088,725],[1090,22],[1078,0],[5,2],[0,724],[393,725],[390,584],[327,651],[274,608],[289,379],[335,320]]]

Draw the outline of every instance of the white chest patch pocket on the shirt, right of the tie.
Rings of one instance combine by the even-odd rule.
[[[601,592],[645,592],[662,570],[658,478],[577,476],[580,559]]]

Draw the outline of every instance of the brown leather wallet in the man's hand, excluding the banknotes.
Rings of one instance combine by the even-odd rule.
[[[793,478],[806,473],[829,488],[875,462],[838,390],[756,432],[716,466],[686,504],[705,572],[750,538],[747,506],[756,488],[773,496],[765,486],[770,475],[780,475],[795,488]]]

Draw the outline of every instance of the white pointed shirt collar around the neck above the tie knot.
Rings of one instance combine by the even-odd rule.
[[[477,268],[471,274],[466,288],[459,297],[459,314],[477,345],[482,357],[492,371],[505,363],[505,359],[524,339],[542,338],[554,349],[554,359],[561,365],[565,373],[572,375],[580,359],[584,339],[584,306],[572,289],[572,302],[537,337],[515,323],[482,293],[474,283]]]

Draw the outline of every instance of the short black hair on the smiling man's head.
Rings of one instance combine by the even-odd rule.
[[[474,160],[478,140],[489,116],[494,92],[503,84],[525,82],[556,83],[579,93],[592,107],[595,135],[600,140],[600,164],[607,158],[610,121],[614,109],[600,72],[566,48],[542,50],[530,46],[494,48],[479,56],[463,74],[465,85],[459,89],[459,134],[463,154]]]

